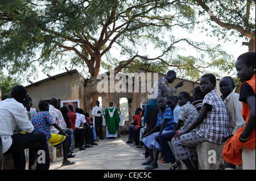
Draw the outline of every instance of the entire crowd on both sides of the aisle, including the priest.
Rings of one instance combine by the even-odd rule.
[[[255,148],[255,52],[247,52],[236,62],[238,80],[242,83],[240,94],[235,93],[234,80],[226,76],[220,80],[221,96],[216,91],[216,77],[207,73],[201,76],[200,86],[193,90],[193,97],[182,91],[178,83],[171,91],[168,84],[176,79],[175,71],[168,71],[159,78],[148,96],[145,110],[137,108],[129,128],[129,140],[137,148],[144,145],[145,169],[158,168],[160,162],[171,163],[171,170],[182,161],[188,169],[199,169],[196,145],[200,142],[225,142],[222,157],[226,169],[234,169],[242,164],[241,149]],[[25,169],[24,149],[30,149],[29,169],[49,169],[48,144],[63,145],[62,165],[73,165],[69,161],[73,154],[73,144],[79,150],[97,145],[94,141],[104,139],[102,116],[106,121],[106,137],[117,137],[119,110],[109,102],[103,111],[100,102],[93,107],[94,125],[88,113],[72,105],[57,108],[59,101],[52,98],[49,103],[41,100],[39,111],[32,108],[32,99],[25,87],[13,87],[11,98],[0,102],[0,135],[2,153],[12,153],[15,169]],[[73,142],[75,136],[75,142]],[[171,146],[168,144],[171,141]],[[155,150],[155,154],[154,151]],[[44,151],[44,162],[38,162]]]

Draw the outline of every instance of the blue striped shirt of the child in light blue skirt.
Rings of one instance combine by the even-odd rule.
[[[161,127],[164,118],[167,120],[166,120],[166,124],[164,124],[163,130],[167,130],[167,131],[174,130],[175,121],[174,121],[174,117],[172,117],[172,112],[170,107],[167,107],[166,110],[164,110],[164,112],[162,113],[162,115],[160,115],[160,113],[158,112],[158,121],[156,123],[158,127]]]

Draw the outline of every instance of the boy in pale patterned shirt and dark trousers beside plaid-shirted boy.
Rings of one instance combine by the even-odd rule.
[[[180,113],[178,117],[178,123],[172,132],[164,133],[159,135],[159,144],[162,148],[162,152],[164,155],[164,159],[166,163],[171,163],[171,170],[175,170],[180,166],[180,162],[176,161],[175,156],[172,154],[171,148],[168,144],[168,141],[172,140],[172,137],[176,133],[183,132],[185,129],[189,128],[189,126],[193,123],[193,121],[198,116],[198,112],[196,108],[189,102],[190,95],[188,92],[180,92],[177,95],[178,104],[180,106]],[[181,126],[182,125],[182,126]]]

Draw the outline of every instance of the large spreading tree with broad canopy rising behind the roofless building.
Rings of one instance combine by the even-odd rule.
[[[175,27],[192,32],[195,19],[193,6],[177,0],[1,0],[0,70],[32,75],[39,66],[47,71],[71,61],[93,77],[101,66],[114,65],[119,72],[131,62],[148,66],[154,61],[198,78],[209,66],[228,69],[230,56],[220,47],[172,34]],[[150,57],[139,52],[139,46],[149,48],[148,42],[161,53]],[[205,62],[205,53],[199,58],[177,55],[180,43],[211,59]],[[125,61],[109,54],[116,47]]]

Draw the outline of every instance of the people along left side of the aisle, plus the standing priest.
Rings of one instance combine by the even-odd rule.
[[[73,144],[79,150],[92,148],[98,145],[94,141],[97,136],[102,140],[102,115],[105,116],[107,125],[107,138],[117,137],[119,128],[119,110],[113,107],[113,102],[109,103],[109,108],[102,111],[97,101],[97,106],[93,108],[93,116],[96,120],[96,128],[89,117],[81,108],[76,108],[69,104],[60,109],[59,100],[51,98],[49,103],[41,100],[38,103],[39,111],[32,108],[32,98],[24,86],[14,86],[11,90],[11,98],[0,102],[1,117],[1,168],[2,154],[13,154],[14,167],[16,170],[24,170],[26,167],[26,158],[24,149],[29,149],[28,169],[37,162],[36,169],[49,169],[49,150],[48,144],[57,147],[63,145],[62,165],[73,165]],[[99,110],[96,110],[98,107]],[[96,113],[94,111],[96,110]],[[101,114],[98,115],[97,114]],[[101,120],[97,118],[101,116]],[[98,127],[100,127],[98,131]],[[75,136],[75,142],[73,142]],[[44,162],[38,163],[38,157],[44,152],[46,157]]]

